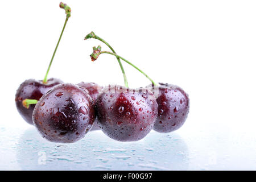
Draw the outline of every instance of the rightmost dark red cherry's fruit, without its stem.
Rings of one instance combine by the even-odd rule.
[[[160,133],[169,133],[183,126],[188,117],[189,98],[179,86],[159,83],[159,86],[147,86],[156,93],[158,102],[158,118],[154,130]]]

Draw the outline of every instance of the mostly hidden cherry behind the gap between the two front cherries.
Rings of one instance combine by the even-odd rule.
[[[87,89],[89,91],[90,97],[92,97],[94,101],[96,101],[98,94],[103,89],[102,86],[100,86],[94,82],[83,82],[82,81],[77,85],[81,86],[82,88]],[[92,129],[90,129],[90,131],[94,131],[94,130],[100,130],[100,126],[98,125],[97,117],[96,117],[96,119],[93,123],[93,127],[92,127]]]

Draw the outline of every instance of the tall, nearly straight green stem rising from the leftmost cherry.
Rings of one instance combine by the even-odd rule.
[[[62,29],[61,34],[60,34],[60,38],[59,38],[59,40],[58,40],[58,42],[57,42],[57,45],[56,45],[56,47],[55,47],[55,50],[54,50],[54,52],[53,52],[52,59],[51,59],[51,61],[50,61],[50,63],[49,63],[49,66],[48,66],[48,69],[47,69],[47,72],[46,72],[46,76],[44,76],[43,84],[46,84],[46,83],[47,83],[47,76],[48,76],[48,73],[49,73],[49,69],[51,68],[51,65],[52,65],[52,60],[53,60],[53,58],[54,58],[54,56],[55,56],[55,53],[56,53],[56,51],[57,51],[57,48],[58,48],[58,46],[59,46],[60,39],[61,39],[61,37],[62,37],[62,35],[63,35],[64,29],[65,29],[66,24],[67,24],[67,22],[68,22],[68,18],[71,16],[71,8],[70,8],[68,5],[64,4],[63,2],[60,2],[60,8],[65,10],[65,13],[67,14],[67,17],[66,17],[66,19],[65,19],[65,23],[64,23],[63,29]]]

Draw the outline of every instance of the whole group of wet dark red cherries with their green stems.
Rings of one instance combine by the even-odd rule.
[[[92,61],[103,53],[115,56],[125,86],[103,87],[94,82],[69,84],[57,78],[47,79],[64,28],[71,16],[69,6],[61,2],[60,7],[65,10],[67,18],[44,80],[26,80],[16,91],[16,107],[26,122],[34,125],[43,138],[59,143],[76,142],[92,130],[102,130],[108,137],[118,141],[137,141],[146,137],[152,129],[168,133],[184,124],[189,112],[188,94],[179,86],[156,84],[141,69],[117,55],[94,32],[86,35],[85,40],[98,39],[112,52],[101,51],[101,46],[93,47],[90,55]],[[141,72],[151,84],[130,89],[121,60]]]

